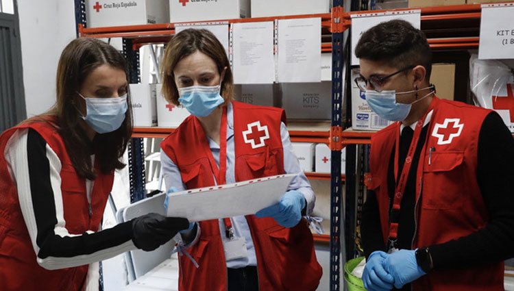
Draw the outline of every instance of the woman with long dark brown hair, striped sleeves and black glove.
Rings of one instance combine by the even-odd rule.
[[[73,40],[59,60],[56,105],[0,136],[0,290],[98,290],[95,262],[154,250],[188,227],[147,214],[99,229],[131,135],[123,56]]]

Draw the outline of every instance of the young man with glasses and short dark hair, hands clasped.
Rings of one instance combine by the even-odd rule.
[[[491,110],[435,96],[430,47],[406,21],[366,31],[356,56],[367,103],[397,121],[371,140],[365,287],[504,290],[503,261],[514,256],[509,129]]]

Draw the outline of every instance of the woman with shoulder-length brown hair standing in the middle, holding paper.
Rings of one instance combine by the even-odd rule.
[[[321,266],[302,219],[315,196],[291,150],[284,110],[232,101],[225,49],[205,29],[175,35],[162,68],[164,97],[192,114],[161,144],[168,188],[296,174],[281,201],[256,215],[191,223],[181,231],[198,265],[179,258],[179,290],[316,290]]]

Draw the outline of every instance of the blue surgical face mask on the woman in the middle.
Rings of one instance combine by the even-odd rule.
[[[190,86],[178,88],[178,101],[194,116],[208,116],[225,100],[219,94],[221,84],[217,86]]]

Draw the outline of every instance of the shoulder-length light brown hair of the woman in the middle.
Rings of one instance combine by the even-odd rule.
[[[164,99],[175,105],[180,105],[173,69],[180,60],[197,51],[204,53],[216,63],[220,75],[223,72],[223,68],[226,68],[225,76],[221,83],[221,96],[225,99],[224,104],[228,103],[234,97],[234,79],[225,48],[223,48],[221,42],[212,32],[206,29],[192,28],[180,31],[167,44],[161,66]]]

